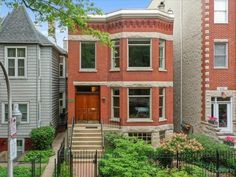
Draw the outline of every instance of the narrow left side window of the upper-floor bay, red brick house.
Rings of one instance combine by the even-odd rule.
[[[114,48],[112,49],[111,53],[111,69],[120,69],[120,40],[114,41]]]

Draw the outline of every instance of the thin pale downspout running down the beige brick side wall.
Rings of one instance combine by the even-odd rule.
[[[183,0],[180,0],[180,129],[183,124]]]

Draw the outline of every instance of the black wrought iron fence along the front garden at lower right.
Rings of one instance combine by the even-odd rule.
[[[197,172],[202,177],[236,177],[236,152],[215,151],[163,154],[155,163],[164,168]]]

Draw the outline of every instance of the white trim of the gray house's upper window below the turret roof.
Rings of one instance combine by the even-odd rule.
[[[15,48],[16,49],[16,57],[9,57],[9,59],[13,59],[15,60],[15,76],[9,76],[9,79],[26,79],[27,78],[27,47],[26,46],[6,46],[5,47],[5,67],[8,73],[8,52],[7,50],[9,48]],[[25,49],[25,57],[17,57],[17,49]],[[16,60],[18,61],[18,59],[24,59],[24,64],[25,64],[25,76],[18,76],[18,62],[16,62]]]

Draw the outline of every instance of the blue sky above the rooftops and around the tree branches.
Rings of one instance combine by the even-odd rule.
[[[91,0],[95,2],[96,7],[99,7],[103,10],[104,13],[109,13],[119,9],[145,9],[148,7],[152,0]],[[0,17],[5,17],[11,9],[8,9],[6,6],[0,6]],[[34,21],[34,14],[28,10],[32,20]],[[47,24],[42,23],[39,26],[39,30],[47,36]],[[57,30],[57,43],[62,47],[63,39],[67,38],[67,31],[61,32]]]

